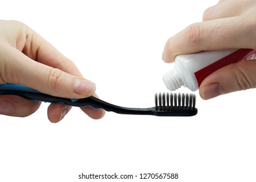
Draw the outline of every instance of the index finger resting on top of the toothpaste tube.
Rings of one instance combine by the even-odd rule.
[[[173,62],[177,55],[206,50],[253,48],[248,25],[242,16],[193,23],[169,38],[163,60]]]

